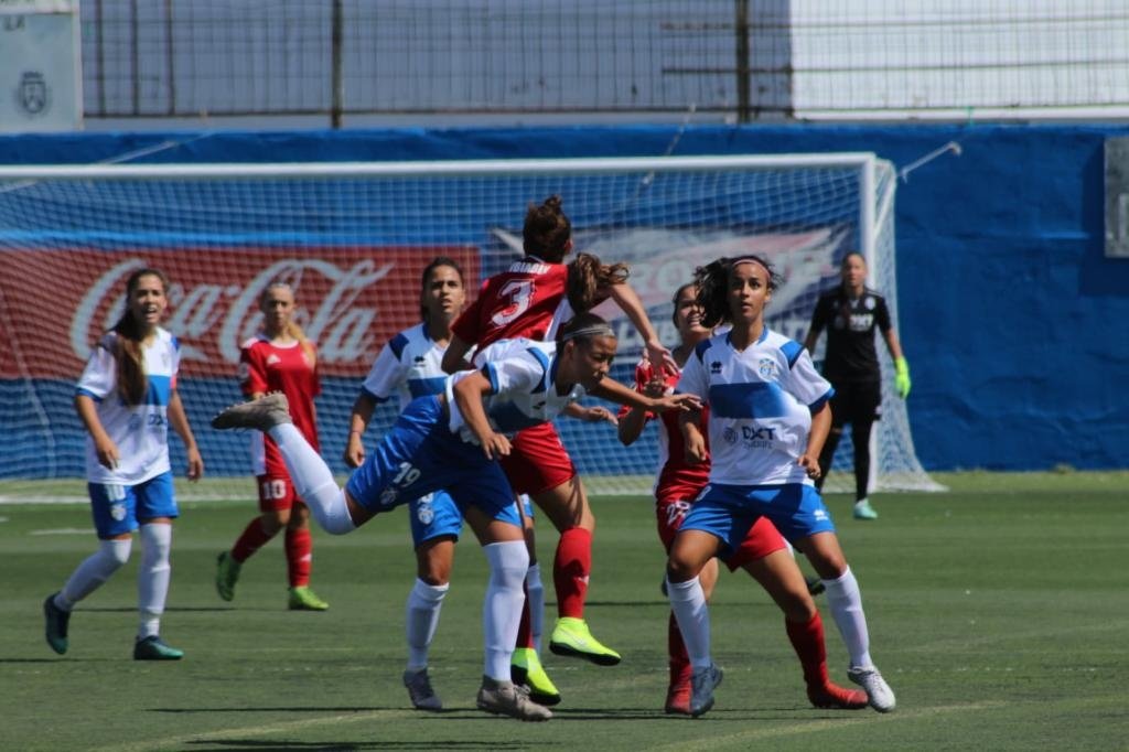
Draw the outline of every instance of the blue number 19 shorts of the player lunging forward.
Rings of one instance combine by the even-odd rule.
[[[447,428],[438,397],[412,400],[345,483],[353,501],[374,514],[446,491],[461,515],[476,507],[491,519],[522,526],[501,466],[482,447]],[[413,531],[414,533],[414,531]]]

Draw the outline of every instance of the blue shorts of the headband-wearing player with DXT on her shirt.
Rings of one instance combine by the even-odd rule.
[[[737,551],[759,517],[768,517],[788,541],[795,543],[815,533],[833,533],[831,513],[815,487],[806,483],[784,486],[724,486],[710,483],[698,495],[683,530],[700,530],[721,539]]]

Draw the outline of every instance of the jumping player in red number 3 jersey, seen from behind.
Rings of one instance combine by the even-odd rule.
[[[604,265],[589,254],[563,263],[572,251],[572,225],[561,211],[559,196],[530,207],[523,242],[525,257],[488,279],[474,304],[455,321],[454,336],[443,359],[444,370],[469,368],[465,356],[474,346],[481,350],[497,340],[517,336],[552,340],[560,324],[574,313],[584,313],[609,297],[638,329],[654,361],[668,362],[673,369],[669,351],[658,341],[639,297],[627,285],[625,265]],[[570,414],[599,418],[599,413]],[[558,620],[550,649],[598,665],[618,664],[619,653],[601,645],[584,620],[595,517],[553,425],[518,432],[510,455],[502,458],[502,467],[514,491],[528,493],[561,534],[553,560]]]

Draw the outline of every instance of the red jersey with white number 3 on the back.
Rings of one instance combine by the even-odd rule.
[[[452,331],[481,350],[516,336],[552,340],[571,316],[568,265],[526,256],[483,282],[478,299],[455,320]]]

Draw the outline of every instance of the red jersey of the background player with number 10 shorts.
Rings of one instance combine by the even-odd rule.
[[[260,332],[243,343],[239,352],[239,385],[243,393],[282,392],[290,402],[290,417],[315,451],[318,449],[314,397],[322,393],[317,368],[300,343],[272,344]],[[252,431],[251,463],[254,474],[286,478],[286,463],[274,440]]]

